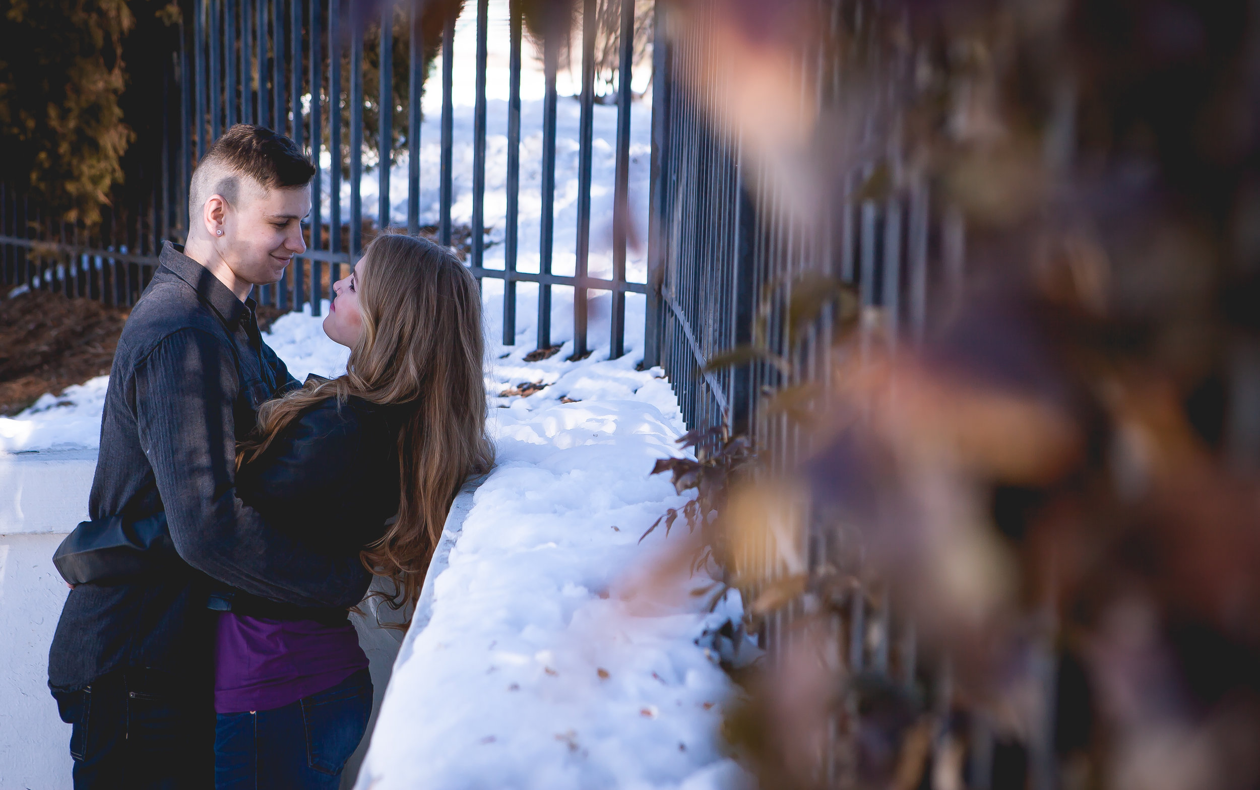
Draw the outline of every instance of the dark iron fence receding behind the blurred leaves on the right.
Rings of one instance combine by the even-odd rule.
[[[799,393],[799,407],[819,403],[844,354],[840,343],[861,354],[878,345],[895,353],[930,331],[937,314],[953,312],[964,278],[963,220],[934,200],[927,178],[903,159],[897,130],[903,118],[895,102],[879,96],[861,105],[845,97],[858,86],[849,79],[874,74],[885,96],[896,96],[912,74],[912,48],[900,55],[881,47],[882,29],[866,23],[878,4],[820,0],[808,6],[810,19],[830,28],[801,37],[785,74],[785,94],[815,117],[859,106],[864,127],[844,141],[839,164],[829,159],[840,147],[816,149],[816,166],[827,171],[823,189],[810,178],[784,179],[782,163],[767,160],[746,141],[750,118],[731,101],[731,76],[723,74],[722,3],[697,0],[658,5],[654,50],[651,249],[646,364],[662,364],[669,375],[689,428],[726,426],[746,436],[777,466],[791,467],[813,450],[808,421],[793,418],[776,396]],[[685,14],[672,24],[670,13]],[[843,29],[843,33],[842,33]],[[663,31],[673,31],[665,35]],[[844,37],[862,39],[840,45]],[[728,42],[727,42],[728,43]],[[892,49],[896,57],[878,60]],[[866,62],[857,62],[854,53]],[[871,68],[872,62],[877,63]],[[803,86],[809,86],[808,89]],[[845,102],[850,102],[845,105]],[[790,103],[790,102],[789,102]],[[775,113],[782,107],[765,107]],[[751,121],[756,125],[756,120]],[[741,131],[741,125],[743,131]],[[834,168],[834,170],[833,170]],[[801,205],[801,194],[809,205]],[[848,324],[849,326],[842,326]],[[791,398],[791,394],[788,396]],[[799,417],[799,416],[798,416]],[[900,616],[890,588],[861,567],[861,542],[839,534],[835,524],[809,513],[780,514],[795,524],[767,529],[764,541],[742,544],[727,568],[751,604],[762,592],[793,578],[816,578],[837,554],[856,557],[848,568],[843,615],[830,619],[830,645],[820,661],[843,667],[848,678],[878,677],[900,687],[920,711],[935,714],[934,750],[945,745],[951,679],[948,661],[925,665],[915,624]],[[843,544],[843,546],[840,546]],[[804,583],[801,585],[804,587]],[[785,648],[801,639],[794,624],[810,609],[808,596],[788,596],[760,619],[759,641],[775,667]],[[816,601],[813,609],[816,610]],[[827,658],[830,656],[830,658]],[[1053,660],[1047,656],[1046,688],[1052,689]],[[1045,674],[1045,673],[1043,673]],[[805,786],[862,786],[854,756],[858,737],[857,692],[845,698],[819,736]],[[1033,727],[1027,745],[1027,786],[1052,786],[1053,706]],[[1047,724],[1047,726],[1042,726]],[[969,733],[970,787],[989,787],[992,733],[982,718]],[[1009,776],[1007,777],[1009,779]],[[1021,775],[1019,786],[1024,786]],[[919,786],[936,786],[925,779]],[[800,785],[791,785],[800,786]]]

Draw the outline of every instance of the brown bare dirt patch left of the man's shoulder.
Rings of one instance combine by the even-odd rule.
[[[45,291],[0,297],[0,416],[107,374],[127,312]]]

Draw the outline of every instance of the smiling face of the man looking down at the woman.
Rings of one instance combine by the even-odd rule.
[[[301,222],[311,210],[310,188],[263,189],[249,184],[224,215],[215,239],[223,261],[252,285],[278,282],[295,255],[306,251]]]

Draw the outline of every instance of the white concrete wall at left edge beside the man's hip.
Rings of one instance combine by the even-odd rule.
[[[71,786],[71,727],[48,693],[68,592],[53,551],[86,518],[94,470],[94,451],[0,454],[0,790]]]

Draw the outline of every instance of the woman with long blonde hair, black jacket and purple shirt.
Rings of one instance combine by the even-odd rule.
[[[350,348],[346,373],[260,408],[237,489],[277,527],[362,552],[396,583],[391,605],[406,605],[459,486],[493,462],[480,294],[450,249],[407,236],[378,237],[333,291],[324,331]],[[312,513],[344,529],[310,532]],[[215,786],[336,787],[372,711],[346,612],[232,590],[212,609],[229,610],[215,645]]]

